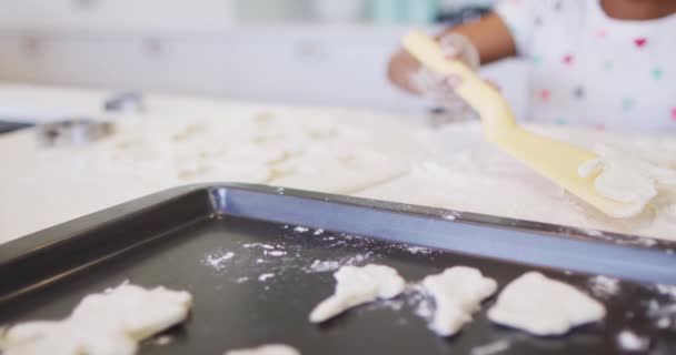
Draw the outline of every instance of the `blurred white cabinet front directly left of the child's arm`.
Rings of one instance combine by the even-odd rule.
[[[395,33],[346,27],[242,31],[225,44],[225,94],[387,110],[415,104],[417,100],[396,92],[386,78]]]

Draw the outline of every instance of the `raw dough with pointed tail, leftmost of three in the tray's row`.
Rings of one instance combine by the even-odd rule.
[[[336,292],[312,310],[312,323],[328,321],[351,307],[377,298],[396,297],[406,284],[396,270],[374,264],[364,267],[342,266],[334,277],[337,282]]]

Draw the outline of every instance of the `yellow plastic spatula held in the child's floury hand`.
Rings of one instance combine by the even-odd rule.
[[[431,38],[412,31],[404,38],[404,48],[427,69],[460,80],[456,92],[479,114],[486,141],[609,216],[627,217],[642,209],[599,195],[594,186],[596,175],[580,178],[577,173],[596,154],[520,128],[499,91],[464,63],[447,60]]]

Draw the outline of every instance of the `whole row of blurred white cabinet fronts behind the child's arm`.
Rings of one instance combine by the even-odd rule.
[[[0,0],[1,1],[1,0]],[[202,33],[0,30],[0,80],[420,112],[386,65],[402,28],[239,27]],[[489,68],[517,108],[525,70]]]

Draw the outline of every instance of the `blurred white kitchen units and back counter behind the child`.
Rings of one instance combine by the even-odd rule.
[[[427,112],[385,71],[412,27],[473,21],[494,1],[0,0],[0,83]],[[517,113],[524,68],[490,65]],[[1,110],[1,109],[0,109]],[[1,112],[0,112],[1,114]]]

